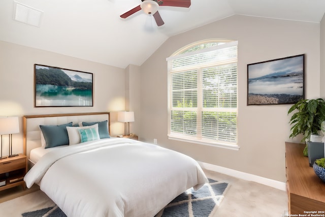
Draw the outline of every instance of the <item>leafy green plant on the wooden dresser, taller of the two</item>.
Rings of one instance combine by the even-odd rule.
[[[302,142],[309,140],[311,134],[318,134],[321,130],[321,122],[325,120],[325,101],[321,98],[312,100],[300,100],[288,110],[288,114],[296,111],[290,118],[291,134],[289,138],[303,135]],[[306,143],[307,144],[307,143]],[[308,146],[304,150],[304,156],[308,156]]]

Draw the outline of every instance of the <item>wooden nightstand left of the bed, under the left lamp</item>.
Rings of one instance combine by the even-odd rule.
[[[0,191],[22,185],[26,185],[23,180],[26,174],[26,156],[19,154],[16,157],[0,160]]]

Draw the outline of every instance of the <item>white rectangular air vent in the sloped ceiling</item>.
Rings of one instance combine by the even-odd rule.
[[[29,25],[40,26],[43,11],[14,2],[13,19]]]

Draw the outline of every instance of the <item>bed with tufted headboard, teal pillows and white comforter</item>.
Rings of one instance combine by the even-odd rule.
[[[208,181],[185,154],[111,137],[108,112],[26,115],[23,126],[27,187],[38,184],[69,217],[153,217],[187,189]],[[52,147],[67,137],[57,135],[63,128],[68,144]]]

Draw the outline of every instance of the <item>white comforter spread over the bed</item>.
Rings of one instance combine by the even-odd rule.
[[[153,217],[187,189],[207,182],[199,164],[131,139],[80,143],[47,153],[24,178],[69,217]]]

